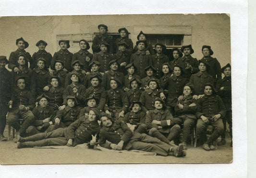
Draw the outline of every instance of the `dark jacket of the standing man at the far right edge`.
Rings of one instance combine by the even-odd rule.
[[[216,88],[219,91],[219,96],[221,97],[227,111],[232,111],[231,77],[224,77],[216,85],[218,85]],[[224,87],[224,89],[220,90],[221,87]]]

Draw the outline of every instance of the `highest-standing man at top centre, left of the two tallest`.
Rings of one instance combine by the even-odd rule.
[[[94,53],[99,53],[101,50],[101,43],[104,41],[108,45],[108,50],[110,54],[114,54],[114,46],[113,46],[113,40],[112,37],[108,35],[108,26],[104,24],[99,24],[98,25],[98,31],[99,34],[96,35],[92,41],[92,50],[93,54]]]

